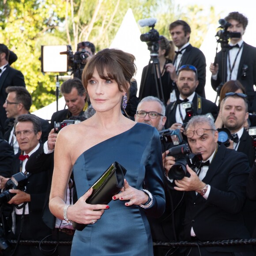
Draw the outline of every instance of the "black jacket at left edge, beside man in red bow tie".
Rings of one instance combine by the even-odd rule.
[[[0,139],[0,175],[10,177],[13,161],[13,149],[4,139]]]

